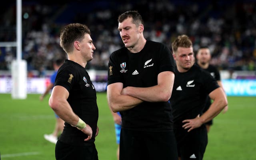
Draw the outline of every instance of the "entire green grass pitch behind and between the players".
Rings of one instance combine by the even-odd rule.
[[[97,96],[98,156],[100,160],[116,160],[114,122],[106,93]],[[55,145],[43,138],[55,124],[48,98],[41,102],[38,94],[28,94],[26,100],[12,100],[10,94],[0,94],[1,160],[55,159]],[[256,160],[256,97],[228,97],[228,102],[228,112],[214,118],[204,160]]]

